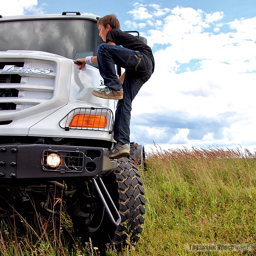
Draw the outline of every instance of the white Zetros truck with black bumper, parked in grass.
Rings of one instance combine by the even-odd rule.
[[[145,192],[134,160],[143,166],[145,151],[131,143],[130,159],[109,159],[117,100],[92,95],[103,83],[96,63],[79,70],[75,62],[103,43],[98,19],[0,15],[0,208],[62,209],[77,237],[118,249],[125,233],[135,245],[142,232]]]

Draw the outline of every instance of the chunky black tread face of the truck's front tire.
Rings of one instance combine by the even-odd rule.
[[[118,161],[113,175],[116,177],[118,185],[117,209],[121,215],[121,223],[115,230],[112,242],[115,242],[117,246],[121,243],[125,244],[127,239],[125,233],[129,233],[131,243],[136,245],[144,223],[145,198],[143,195],[145,191],[142,187],[143,182],[138,169],[127,158],[121,158]]]

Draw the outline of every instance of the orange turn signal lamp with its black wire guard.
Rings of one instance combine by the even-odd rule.
[[[59,122],[66,131],[96,130],[113,133],[113,112],[105,108],[76,108],[71,110]]]

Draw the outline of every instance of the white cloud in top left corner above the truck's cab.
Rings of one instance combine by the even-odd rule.
[[[9,0],[0,2],[2,16],[24,15],[27,11],[41,14],[41,8],[36,7],[37,0]]]

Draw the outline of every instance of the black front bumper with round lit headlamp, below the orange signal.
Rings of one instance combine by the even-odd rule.
[[[61,159],[57,167],[47,165],[46,157],[51,153]],[[0,145],[0,183],[6,179],[92,179],[112,171],[116,166],[117,161],[109,159],[107,148],[42,144]]]

